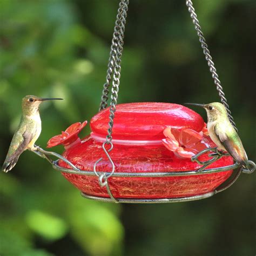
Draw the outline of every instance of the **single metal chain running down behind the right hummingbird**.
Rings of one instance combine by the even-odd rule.
[[[191,0],[186,0],[186,5],[187,5],[187,8],[188,8],[188,12],[190,12],[190,17],[192,18],[192,21],[194,23],[194,28],[196,29],[197,35],[199,36],[199,42],[201,43],[201,48],[203,49],[205,59],[207,60],[207,64],[210,68],[210,72],[212,73],[212,78],[214,80],[214,84],[217,87],[217,91],[218,91],[221,103],[226,107],[228,118],[230,119],[230,122],[233,125],[234,129],[236,131],[238,131],[237,127],[235,126],[233,117],[231,116],[231,111],[230,111],[229,106],[227,104],[227,99],[225,98],[225,93],[223,92],[223,87],[220,85],[219,76],[217,74],[216,68],[215,68],[214,63],[212,61],[212,56],[210,55],[210,51],[208,50],[208,46],[206,44],[204,34],[201,31],[201,27],[199,25],[199,21],[197,19],[196,12],[193,8],[193,3],[192,3]]]

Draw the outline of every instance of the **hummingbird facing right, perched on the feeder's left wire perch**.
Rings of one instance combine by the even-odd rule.
[[[11,145],[2,167],[3,172],[10,171],[16,165],[23,151],[27,149],[30,151],[37,150],[35,142],[42,130],[39,106],[45,100],[55,99],[60,98],[39,98],[28,95],[22,99],[22,118],[14,137],[12,137]]]

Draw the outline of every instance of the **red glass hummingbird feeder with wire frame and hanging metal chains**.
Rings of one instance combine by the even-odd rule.
[[[55,170],[75,185],[85,198],[115,203],[169,203],[198,200],[230,187],[244,169],[217,150],[203,118],[172,103],[117,105],[120,64],[129,0],[121,0],[110,51],[99,112],[91,119],[91,134],[78,133],[87,124],[72,124],[51,138],[48,147],[62,144],[63,156],[38,148]],[[186,5],[204,50],[221,102],[235,127],[210,51],[192,1]],[[107,107],[112,82],[110,106]],[[53,161],[50,156],[57,157]]]

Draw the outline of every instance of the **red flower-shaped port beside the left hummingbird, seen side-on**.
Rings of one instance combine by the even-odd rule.
[[[83,130],[87,121],[83,123],[75,123],[70,125],[62,134],[56,135],[49,139],[47,147],[54,147],[57,145],[64,145],[65,149],[68,149],[72,145],[79,143],[81,140],[78,137],[78,133]]]

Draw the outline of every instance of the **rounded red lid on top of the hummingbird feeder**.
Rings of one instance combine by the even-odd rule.
[[[91,119],[93,137],[105,138],[109,129],[109,107]],[[185,106],[172,103],[119,104],[114,113],[112,138],[120,140],[161,140],[167,127],[201,131],[203,118]]]

